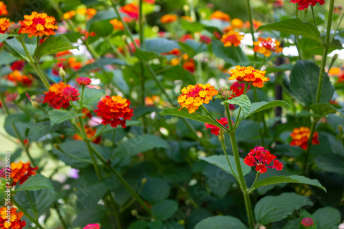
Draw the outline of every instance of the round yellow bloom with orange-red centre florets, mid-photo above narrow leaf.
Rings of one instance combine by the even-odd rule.
[[[217,89],[210,83],[202,85],[189,85],[182,89],[182,94],[178,97],[179,105],[188,109],[189,113],[194,113],[201,105],[208,104],[213,96],[218,94]],[[179,109],[179,110],[180,110]]]

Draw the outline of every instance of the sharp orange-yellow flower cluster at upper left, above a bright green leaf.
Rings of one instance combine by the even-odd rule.
[[[24,21],[19,21],[19,23],[21,23],[19,34],[28,34],[30,38],[32,36],[55,35],[54,30],[58,28],[55,25],[55,18],[47,16],[45,13],[32,12],[31,15],[25,15]]]

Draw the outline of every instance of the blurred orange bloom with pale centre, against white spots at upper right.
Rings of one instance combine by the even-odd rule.
[[[264,54],[266,57],[271,56],[271,52],[280,53],[283,51],[283,47],[279,46],[281,45],[281,42],[276,39],[271,39],[271,37],[268,37],[267,39],[259,37],[258,41],[255,41],[253,45],[255,46],[253,51]]]

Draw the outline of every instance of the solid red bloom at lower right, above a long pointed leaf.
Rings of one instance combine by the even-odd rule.
[[[265,173],[267,168],[282,170],[283,164],[275,160],[276,158],[275,155],[270,154],[263,146],[257,146],[255,149],[251,149],[250,153],[245,157],[244,163],[248,166],[256,166],[256,171],[259,173]],[[271,162],[273,162],[273,165],[267,166]]]

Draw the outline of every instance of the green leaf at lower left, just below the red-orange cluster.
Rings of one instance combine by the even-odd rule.
[[[54,188],[52,187],[52,182],[49,178],[41,175],[36,174],[29,177],[19,188],[16,190],[41,190],[41,189],[48,189],[54,192]]]

